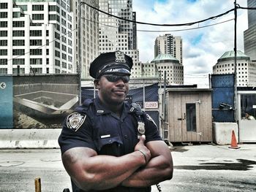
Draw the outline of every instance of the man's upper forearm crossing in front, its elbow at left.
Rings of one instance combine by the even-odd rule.
[[[71,156],[74,158],[74,154]],[[144,156],[139,151],[121,157],[94,155],[86,158],[86,161],[84,159],[82,155],[75,161],[67,160],[73,162],[65,164],[65,168],[76,185],[85,191],[114,188],[145,164]]]

